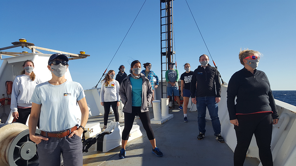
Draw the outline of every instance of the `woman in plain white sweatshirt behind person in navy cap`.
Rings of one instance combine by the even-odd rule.
[[[12,84],[10,109],[16,122],[26,124],[31,113],[33,91],[41,80],[33,72],[33,61],[26,60],[22,68],[21,75],[16,76]]]

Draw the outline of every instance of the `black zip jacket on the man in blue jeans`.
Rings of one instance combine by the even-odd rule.
[[[191,98],[205,96],[221,97],[221,82],[218,70],[210,64],[206,68],[203,68],[201,65],[198,66],[193,72],[190,92]]]

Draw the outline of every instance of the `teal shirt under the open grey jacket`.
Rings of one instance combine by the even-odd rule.
[[[143,79],[134,79],[130,77],[131,81],[131,106],[142,106],[142,83]]]

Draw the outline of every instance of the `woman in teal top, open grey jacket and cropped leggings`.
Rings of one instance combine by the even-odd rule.
[[[152,98],[152,86],[149,79],[141,73],[141,63],[135,60],[131,63],[130,75],[123,79],[119,95],[124,104],[124,129],[122,131],[122,149],[120,149],[119,158],[123,159],[126,155],[126,144],[129,133],[133,127],[133,121],[136,114],[139,115],[147,137],[152,145],[152,153],[157,157],[163,156],[160,149],[156,147],[154,132],[150,124],[149,103]]]

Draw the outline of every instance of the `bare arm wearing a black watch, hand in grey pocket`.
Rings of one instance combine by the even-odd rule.
[[[86,103],[85,97],[82,98],[81,100],[78,100],[78,105],[81,111],[81,123],[80,125],[85,127],[87,120],[89,119],[89,108]],[[72,137],[74,134],[78,135],[79,137],[83,133],[83,129],[81,127],[78,128],[78,130],[73,131],[70,135],[69,138]]]

